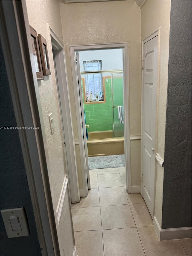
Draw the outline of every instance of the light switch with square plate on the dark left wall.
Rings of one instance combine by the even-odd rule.
[[[29,236],[24,208],[1,210],[8,238]]]

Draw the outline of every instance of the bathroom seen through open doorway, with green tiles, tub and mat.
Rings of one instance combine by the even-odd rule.
[[[76,56],[81,73],[89,168],[125,167],[123,49],[79,51]]]

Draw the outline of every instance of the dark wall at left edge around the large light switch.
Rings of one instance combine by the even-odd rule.
[[[0,127],[16,126],[0,42]],[[17,129],[0,129],[0,209],[24,207],[30,236],[7,238],[0,214],[0,256],[41,255]]]

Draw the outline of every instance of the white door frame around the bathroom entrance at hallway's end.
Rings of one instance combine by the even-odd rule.
[[[123,49],[123,74],[124,74],[124,148],[125,148],[125,175],[126,175],[126,190],[131,193],[131,162],[130,162],[130,132],[129,132],[129,62],[128,62],[128,42],[124,43],[110,43],[110,44],[85,44],[85,45],[72,45],[70,46],[70,58],[73,77],[73,89],[76,106],[76,119],[81,158],[81,169],[83,179],[82,194],[87,196],[87,179],[86,179],[86,165],[84,158],[84,144],[83,144],[83,132],[82,132],[82,116],[79,96],[79,83],[77,79],[77,68],[75,52],[83,50],[107,50],[107,49]],[[126,85],[126,86],[125,86]],[[80,192],[81,194],[81,192]]]

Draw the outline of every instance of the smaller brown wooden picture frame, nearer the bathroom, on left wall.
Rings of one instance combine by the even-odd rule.
[[[40,48],[40,54],[41,54],[43,74],[44,76],[50,76],[51,71],[49,66],[49,56],[47,51],[46,39],[42,35],[38,34],[38,41],[39,41],[39,48]]]

